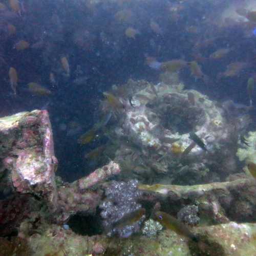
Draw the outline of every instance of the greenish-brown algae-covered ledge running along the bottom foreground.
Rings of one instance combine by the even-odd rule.
[[[26,251],[42,255],[254,255],[256,224],[230,222],[194,227],[198,242],[189,241],[172,230],[160,230],[154,239],[134,235],[128,239],[79,236],[71,229],[46,225],[41,232],[25,237]],[[2,243],[2,249],[11,246]]]

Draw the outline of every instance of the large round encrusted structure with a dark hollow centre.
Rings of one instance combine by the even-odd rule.
[[[225,180],[239,171],[236,145],[240,128],[234,130],[218,102],[198,91],[184,90],[184,84],[177,81],[139,84],[133,81],[137,90],[120,95],[123,101],[131,96],[132,105],[127,102],[109,133],[111,141],[119,145],[114,160],[124,166],[122,179],[194,185]],[[185,151],[193,142],[192,131],[208,152],[197,144]]]

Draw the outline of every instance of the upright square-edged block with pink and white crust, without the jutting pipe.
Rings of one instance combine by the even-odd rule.
[[[3,136],[7,146],[0,155],[14,189],[43,197],[49,209],[55,211],[57,162],[52,160],[56,158],[48,112],[36,110],[4,118],[0,140]]]

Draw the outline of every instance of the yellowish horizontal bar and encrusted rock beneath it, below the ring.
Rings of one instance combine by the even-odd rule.
[[[139,185],[142,200],[160,202],[166,212],[177,214],[184,201],[198,206],[199,218],[208,223],[256,221],[256,182],[254,179],[238,179],[194,186]],[[166,203],[168,202],[168,203]]]

